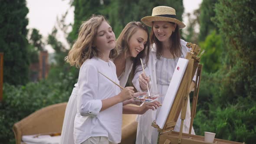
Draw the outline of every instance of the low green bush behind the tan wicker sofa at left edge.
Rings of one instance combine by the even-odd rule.
[[[72,70],[74,71],[72,73]],[[50,73],[59,72],[52,69]],[[23,86],[3,85],[3,101],[0,103],[0,144],[14,144],[13,124],[34,111],[68,101],[73,85],[77,81],[77,69],[59,72],[55,79],[45,79]]]

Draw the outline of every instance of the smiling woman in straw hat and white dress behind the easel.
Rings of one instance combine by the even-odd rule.
[[[138,91],[146,91],[147,85],[149,85],[152,93],[165,95],[178,59],[185,58],[189,50],[186,46],[187,42],[181,39],[179,32],[179,29],[184,28],[185,24],[176,19],[176,12],[173,8],[165,6],[154,7],[152,16],[143,17],[141,21],[152,27],[151,49],[145,74],[143,72],[135,73],[132,83]],[[141,67],[137,69],[141,69]],[[194,82],[191,84],[192,88],[194,88]],[[163,103],[164,97],[160,97],[158,100]],[[156,128],[151,127],[151,123],[156,120],[159,111],[160,108],[156,111],[147,111],[144,115],[138,115],[136,144],[157,143],[158,132]],[[181,119],[178,118],[174,131],[180,131],[180,125]],[[188,100],[184,133],[188,133],[189,126],[190,102]],[[195,134],[193,128],[191,134]]]

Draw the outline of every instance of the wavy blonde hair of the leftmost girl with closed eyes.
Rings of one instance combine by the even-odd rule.
[[[69,62],[71,66],[80,68],[86,59],[91,59],[93,56],[98,57],[99,51],[95,46],[92,46],[93,41],[97,35],[97,29],[102,22],[108,21],[102,15],[92,15],[89,20],[82,22],[79,28],[79,35],[75,43],[70,49],[68,56],[65,57],[65,61]],[[117,55],[117,50],[112,49],[109,57],[112,59]]]

